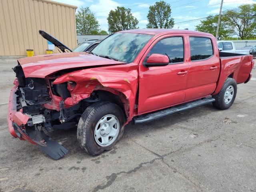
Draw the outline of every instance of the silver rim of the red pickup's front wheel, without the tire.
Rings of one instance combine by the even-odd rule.
[[[102,117],[94,129],[94,139],[99,146],[110,146],[118,137],[119,120],[114,115]]]

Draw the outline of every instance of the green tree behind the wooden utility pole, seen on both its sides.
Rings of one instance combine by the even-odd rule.
[[[196,30],[210,33],[216,36],[217,23],[218,23],[218,15],[216,16],[209,15],[206,18],[206,20],[202,20],[201,23],[196,26]],[[219,28],[218,40],[225,39],[228,36],[232,36],[233,34],[234,34],[234,30],[230,28],[230,26],[228,25],[227,16],[222,16],[220,28]]]

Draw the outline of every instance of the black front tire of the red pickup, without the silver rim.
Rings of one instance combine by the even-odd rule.
[[[120,128],[116,140],[109,146],[100,146],[94,138],[94,129],[102,117],[112,114],[119,121]],[[96,102],[90,105],[82,114],[77,126],[77,139],[80,147],[90,155],[100,155],[104,150],[111,150],[124,132],[124,113],[122,109],[111,102]]]

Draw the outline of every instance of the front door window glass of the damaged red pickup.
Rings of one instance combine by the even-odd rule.
[[[150,50],[148,56],[152,54],[167,55],[169,57],[170,64],[184,62],[183,38],[175,36],[167,37],[158,41]]]

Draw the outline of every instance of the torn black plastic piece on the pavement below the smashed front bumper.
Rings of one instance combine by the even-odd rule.
[[[40,148],[54,160],[58,160],[68,153],[66,148],[57,141],[52,140],[50,137],[45,135],[44,140],[46,142],[46,146],[40,145]]]

